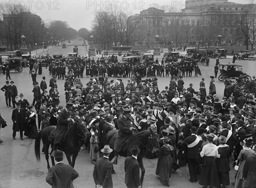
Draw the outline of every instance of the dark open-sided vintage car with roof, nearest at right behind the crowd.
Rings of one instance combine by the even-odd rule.
[[[242,65],[237,64],[219,64],[220,75],[218,77],[219,81],[223,81],[225,76],[230,78],[239,77],[241,74],[244,75],[244,78],[247,77],[248,80],[252,78],[242,69]]]

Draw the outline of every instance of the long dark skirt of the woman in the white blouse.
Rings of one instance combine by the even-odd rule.
[[[204,157],[199,184],[203,186],[218,186],[218,171],[214,157]]]

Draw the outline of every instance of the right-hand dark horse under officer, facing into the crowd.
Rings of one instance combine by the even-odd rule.
[[[118,135],[118,130],[112,130],[109,131],[106,135],[107,140],[109,145],[113,148],[115,139]],[[146,130],[146,131],[141,131],[137,135],[132,135],[129,138],[128,142],[128,147],[124,152],[119,152],[119,155],[122,157],[129,157],[131,156],[131,148],[134,147],[134,145],[137,145],[138,148],[140,148],[140,154],[138,154],[137,160],[140,164],[140,169],[141,169],[141,177],[140,177],[140,182],[141,182],[141,187],[144,179],[144,174],[145,174],[145,168],[143,165],[143,157],[145,155],[145,149],[153,152],[157,152],[159,150],[159,135],[155,133],[154,131]],[[147,146],[148,145],[148,146]],[[109,159],[112,160],[114,157],[113,152],[111,153]]]

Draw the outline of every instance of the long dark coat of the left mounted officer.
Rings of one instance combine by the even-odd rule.
[[[70,117],[70,113],[66,109],[61,111],[58,117],[58,124],[56,127],[55,144],[60,144],[65,141],[65,134],[68,129],[69,122],[67,119]]]

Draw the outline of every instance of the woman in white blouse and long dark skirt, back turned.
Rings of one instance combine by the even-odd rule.
[[[218,148],[212,143],[214,136],[207,134],[208,144],[204,145],[200,152],[202,159],[202,171],[199,184],[207,187],[218,186],[218,171],[215,163],[215,158],[218,157]]]

